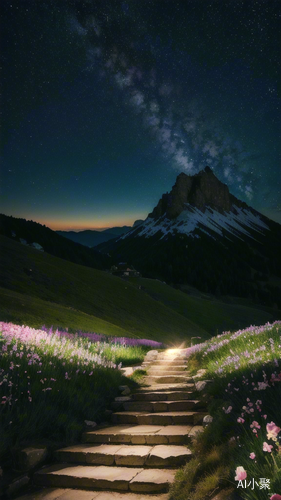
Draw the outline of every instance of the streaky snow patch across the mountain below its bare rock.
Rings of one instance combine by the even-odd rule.
[[[241,238],[242,235],[254,239],[251,234],[252,231],[263,234],[264,230],[269,230],[269,227],[258,214],[246,208],[233,206],[231,212],[220,213],[210,207],[206,207],[205,212],[202,212],[187,203],[186,208],[175,219],[171,220],[162,216],[155,220],[152,217],[148,217],[140,226],[140,231],[135,233],[135,235],[148,238],[160,231],[163,233],[160,239],[169,233],[174,234],[175,232],[194,236],[192,233],[195,229],[207,233],[212,237],[214,236],[210,234],[208,229],[211,229],[220,236],[223,236],[225,231],[227,231],[239,239],[243,239]],[[132,234],[131,231],[122,235],[120,239],[127,238],[130,234]]]

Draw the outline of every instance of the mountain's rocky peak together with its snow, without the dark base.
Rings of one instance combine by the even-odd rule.
[[[153,212],[120,239],[134,236],[160,239],[168,234],[185,234],[199,238],[205,233],[212,238],[255,238],[255,232],[265,234],[270,228],[266,218],[229,193],[209,167],[194,176],[181,173],[170,193],[162,196]],[[160,235],[160,233],[162,233]]]

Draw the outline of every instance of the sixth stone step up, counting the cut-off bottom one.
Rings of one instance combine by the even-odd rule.
[[[202,403],[196,399],[185,401],[129,401],[124,402],[122,407],[125,411],[190,411],[199,407],[202,408]]]

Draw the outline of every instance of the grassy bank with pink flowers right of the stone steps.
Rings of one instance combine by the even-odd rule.
[[[213,422],[196,439],[197,461],[177,475],[171,499],[183,498],[184,491],[186,500],[203,500],[222,485],[249,500],[281,495],[280,359],[277,321],[226,332],[193,348],[189,368],[206,369],[204,378],[213,381],[205,389]]]

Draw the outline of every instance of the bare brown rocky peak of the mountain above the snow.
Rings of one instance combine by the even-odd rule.
[[[221,182],[210,167],[193,176],[181,172],[170,193],[163,194],[149,217],[158,219],[164,214],[168,219],[174,219],[187,208],[187,205],[201,210],[203,213],[209,207],[220,213],[229,212],[233,205],[247,205],[230,194],[226,184]]]

